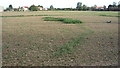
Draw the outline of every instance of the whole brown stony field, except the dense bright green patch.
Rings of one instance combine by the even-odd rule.
[[[118,12],[36,11],[2,14],[3,66],[118,65]],[[44,21],[44,17],[71,18],[83,23]]]

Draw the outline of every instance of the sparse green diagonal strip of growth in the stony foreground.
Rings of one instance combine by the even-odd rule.
[[[57,51],[53,53],[53,56],[61,56],[64,54],[71,54],[75,49],[76,46],[80,45],[81,42],[84,42],[86,36],[91,35],[94,31],[87,27],[82,27],[85,32],[82,33],[79,37],[72,39],[71,41],[57,47]]]

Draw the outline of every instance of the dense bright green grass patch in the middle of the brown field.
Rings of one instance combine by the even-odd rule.
[[[55,18],[55,17],[44,17],[44,21],[61,21],[66,24],[76,24],[76,23],[82,23],[80,20],[74,20],[71,18]]]

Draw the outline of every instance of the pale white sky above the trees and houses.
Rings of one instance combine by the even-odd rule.
[[[53,5],[54,8],[75,8],[77,2],[82,2],[87,6],[108,6],[113,2],[119,2],[119,0],[0,0],[0,6],[4,8],[8,7],[10,4],[14,8],[19,6],[31,6],[31,5],[42,5],[44,8],[49,8]]]

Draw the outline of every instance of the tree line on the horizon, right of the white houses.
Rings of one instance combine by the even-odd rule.
[[[120,1],[118,5],[116,2],[109,6],[103,5],[102,7],[98,7],[97,5],[94,6],[87,6],[82,4],[82,2],[78,2],[76,8],[54,8],[53,5],[50,6],[50,10],[72,10],[72,11],[120,11]]]

